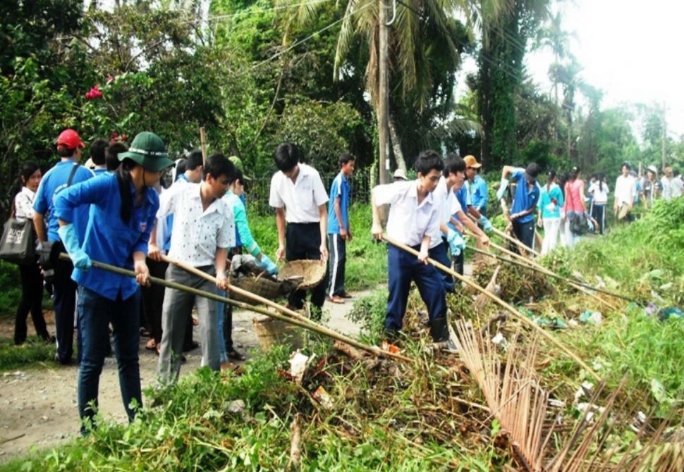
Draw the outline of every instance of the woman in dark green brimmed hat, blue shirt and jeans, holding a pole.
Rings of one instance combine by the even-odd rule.
[[[140,395],[140,290],[149,284],[145,253],[159,208],[154,185],[161,170],[173,163],[166,147],[152,132],[140,132],[130,151],[119,154],[116,173],[101,173],[57,194],[59,235],[74,263],[78,283],[78,318],[83,358],[78,373],[78,412],[81,433],[94,427],[99,375],[102,373],[109,324],[114,332],[118,380],[128,420],[142,406]],[[81,244],[73,222],[80,206],[90,206],[85,241]],[[91,259],[92,258],[92,259]],[[92,260],[135,271],[127,277],[92,267]]]

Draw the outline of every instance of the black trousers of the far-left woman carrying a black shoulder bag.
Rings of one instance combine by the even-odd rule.
[[[21,280],[21,299],[14,318],[14,344],[23,344],[26,340],[26,318],[31,313],[36,334],[43,340],[49,340],[45,318],[43,317],[43,276],[37,263],[19,266]]]

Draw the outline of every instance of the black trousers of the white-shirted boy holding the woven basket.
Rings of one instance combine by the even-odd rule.
[[[285,258],[288,261],[321,259],[321,227],[319,223],[288,223],[285,231]],[[329,268],[325,277],[311,290],[311,304],[320,311],[325,302],[328,287]],[[306,292],[297,290],[290,294],[288,303],[295,309],[304,307]]]

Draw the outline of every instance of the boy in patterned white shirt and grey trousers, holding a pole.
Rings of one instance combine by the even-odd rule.
[[[187,172],[187,170],[186,170]],[[228,248],[235,245],[233,212],[221,197],[235,179],[236,170],[223,154],[207,157],[200,183],[172,185],[161,194],[159,218],[173,213],[173,231],[169,259],[183,262],[209,275],[215,275],[216,286],[200,275],[188,273],[169,264],[166,280],[216,293],[216,287],[228,290],[226,260]],[[152,230],[149,257],[161,260],[156,241],[157,228]],[[161,349],[157,368],[161,384],[176,383],[181,372],[183,340],[188,316],[197,306],[200,318],[200,345],[205,365],[219,371],[219,333],[216,330],[216,303],[194,294],[166,288],[161,313]]]

